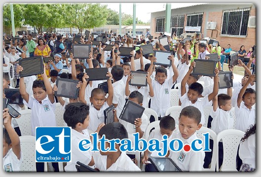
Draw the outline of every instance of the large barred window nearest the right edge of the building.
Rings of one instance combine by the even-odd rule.
[[[247,36],[250,8],[223,10],[221,35]]]

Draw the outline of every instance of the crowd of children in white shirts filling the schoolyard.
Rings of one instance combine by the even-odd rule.
[[[79,43],[90,43],[91,37],[87,37],[89,40],[86,41],[82,37]],[[53,43],[57,49],[59,49],[57,44],[61,46],[61,43],[66,40],[66,37],[62,38],[61,36],[57,37],[57,41],[53,41],[51,38],[48,36],[51,42],[48,42],[46,38],[46,43],[50,43],[50,45]],[[42,40],[42,38],[40,39]],[[111,37],[108,37],[108,40],[110,39]],[[178,39],[176,35],[175,39]],[[133,47],[129,57],[119,55],[118,47],[123,47],[122,43],[125,40],[131,41],[128,46]],[[158,42],[157,37],[149,42],[153,41],[156,42],[155,46],[153,46],[154,50],[166,51]],[[172,41],[171,38],[169,41]],[[44,65],[44,72],[40,74],[41,79],[36,79],[35,76],[20,78],[19,72],[23,71],[23,68],[18,65],[17,60],[20,57],[16,53],[16,48],[6,46],[4,49],[4,56],[8,57],[9,62],[14,65],[14,78],[17,79],[15,88],[20,89],[24,105],[32,109],[31,125],[28,125],[32,128],[32,136],[36,136],[36,127],[56,126],[55,105],[58,102],[61,104],[64,110],[65,126],[72,127],[72,162],[67,163],[65,166],[64,170],[66,172],[76,172],[75,165],[77,161],[100,172],[141,171],[137,166],[141,162],[137,161],[133,152],[121,152],[119,149],[120,144],[115,144],[115,152],[100,151],[95,153],[80,151],[77,146],[82,139],[92,142],[90,132],[97,132],[99,137],[105,135],[108,140],[128,139],[134,133],[139,133],[139,138],[144,137],[149,123],[153,120],[145,113],[141,117],[137,117],[133,123],[120,119],[120,114],[127,100],[139,106],[149,107],[157,113],[158,117],[156,118],[160,120],[160,129],[152,130],[147,141],[150,139],[162,140],[162,136],[167,135],[169,140],[180,139],[184,144],[191,144],[193,140],[197,139],[195,132],[205,124],[205,121],[208,121],[204,116],[205,106],[212,106],[210,112],[213,119],[211,129],[217,135],[223,130],[233,129],[234,121],[236,121],[236,129],[243,132],[247,132],[250,126],[256,123],[256,75],[252,74],[249,65],[246,66],[242,61],[238,61],[238,66],[243,67],[246,74],[241,83],[234,82],[232,88],[222,90],[219,89],[220,62],[217,65],[218,68],[215,69],[213,78],[202,76],[206,80],[204,85],[198,82],[200,76],[193,74],[193,68],[196,67],[196,62],[193,60],[205,59],[207,53],[206,45],[197,42],[195,38],[190,43],[182,44],[180,42],[178,45],[176,44],[175,50],[171,50],[173,55],[168,57],[171,61],[169,68],[160,65],[155,66],[154,63],[157,58],[149,54],[143,55],[142,47],[138,47],[141,42],[137,39],[133,40],[127,35],[124,35],[124,37],[115,36],[115,42],[109,43],[114,45],[112,52],[104,51],[103,49],[107,44],[100,42],[98,46],[91,45],[89,58],[84,59],[84,61],[75,59],[73,53],[68,55],[67,53],[70,51],[66,49],[66,45],[63,45],[60,49],[62,53],[54,54],[54,61]],[[170,44],[174,46],[172,42]],[[197,52],[198,58],[193,55],[195,52],[190,51],[192,48],[199,50]],[[176,55],[175,51],[177,51]],[[21,60],[26,58],[26,51],[21,53],[21,58]],[[253,58],[251,56],[250,58],[252,62]],[[108,93],[98,88],[98,85],[104,81],[89,81],[89,76],[84,73],[84,69],[105,67],[109,70],[106,75],[109,77],[107,80]],[[47,73],[48,69],[49,74]],[[62,69],[68,69],[69,73],[62,72]],[[233,66],[229,66],[229,70],[233,71]],[[133,79],[131,71],[146,71],[148,86],[129,85],[129,82]],[[9,78],[12,75],[9,77],[7,72],[3,72],[3,89],[11,88]],[[79,88],[77,99],[54,96],[54,92],[59,90],[56,85],[58,77],[78,81],[75,87],[75,90]],[[179,122],[175,122],[173,117],[165,116],[165,112],[171,107],[171,89],[176,89],[175,84],[178,83],[181,84],[179,105],[182,106],[182,111],[179,115]],[[61,92],[65,92],[66,89],[67,85]],[[5,98],[4,94],[3,97]],[[14,108],[19,111],[24,105],[15,105]],[[104,110],[109,106],[114,106],[114,122],[105,125]],[[236,120],[233,120],[231,115],[230,110],[232,107],[235,107]],[[6,172],[19,171],[23,159],[18,137],[21,134],[18,124],[15,119],[11,119],[7,108],[3,109],[3,125],[3,169]],[[178,125],[177,131],[175,131],[176,125]],[[256,126],[254,128],[256,130]],[[251,136],[253,134],[245,136],[242,147],[240,145],[239,156],[243,160],[241,171],[244,171],[244,169],[245,171],[254,171],[256,167],[255,160],[249,160],[246,157],[246,153],[250,151],[251,158],[255,158],[253,149],[250,147],[254,141],[253,136]],[[109,143],[106,145],[109,146]],[[201,145],[196,144],[196,147],[200,148]],[[156,170],[148,162],[149,157],[152,156],[157,156],[157,154],[146,150],[141,160],[146,165],[146,172],[155,172]],[[166,157],[171,158],[182,171],[186,172],[202,171],[203,166],[205,166],[204,161],[207,163],[207,154],[205,155],[202,151],[174,152],[169,150]],[[53,167],[57,171],[55,163],[53,163]],[[37,171],[42,171],[41,164],[37,165]]]

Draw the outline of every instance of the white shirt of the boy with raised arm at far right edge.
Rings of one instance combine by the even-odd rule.
[[[245,106],[242,101],[240,107],[235,106],[236,129],[246,132],[250,125],[256,123],[256,104],[251,107],[251,110]]]

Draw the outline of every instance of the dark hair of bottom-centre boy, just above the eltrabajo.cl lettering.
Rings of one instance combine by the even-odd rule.
[[[107,140],[128,139],[126,128],[119,122],[112,122],[103,126],[99,131],[99,136],[102,137],[103,135],[105,135]]]

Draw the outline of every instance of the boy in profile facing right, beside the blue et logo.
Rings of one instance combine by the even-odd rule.
[[[89,140],[92,142],[88,133],[88,125],[90,121],[89,106],[83,103],[70,103],[65,107],[64,121],[69,127],[72,127],[72,162],[67,162],[65,166],[66,172],[76,172],[76,162],[79,161],[88,166],[94,166],[92,158],[93,152],[81,151],[78,144],[81,140]],[[99,133],[102,125],[96,130]],[[88,145],[91,148],[92,143]]]

